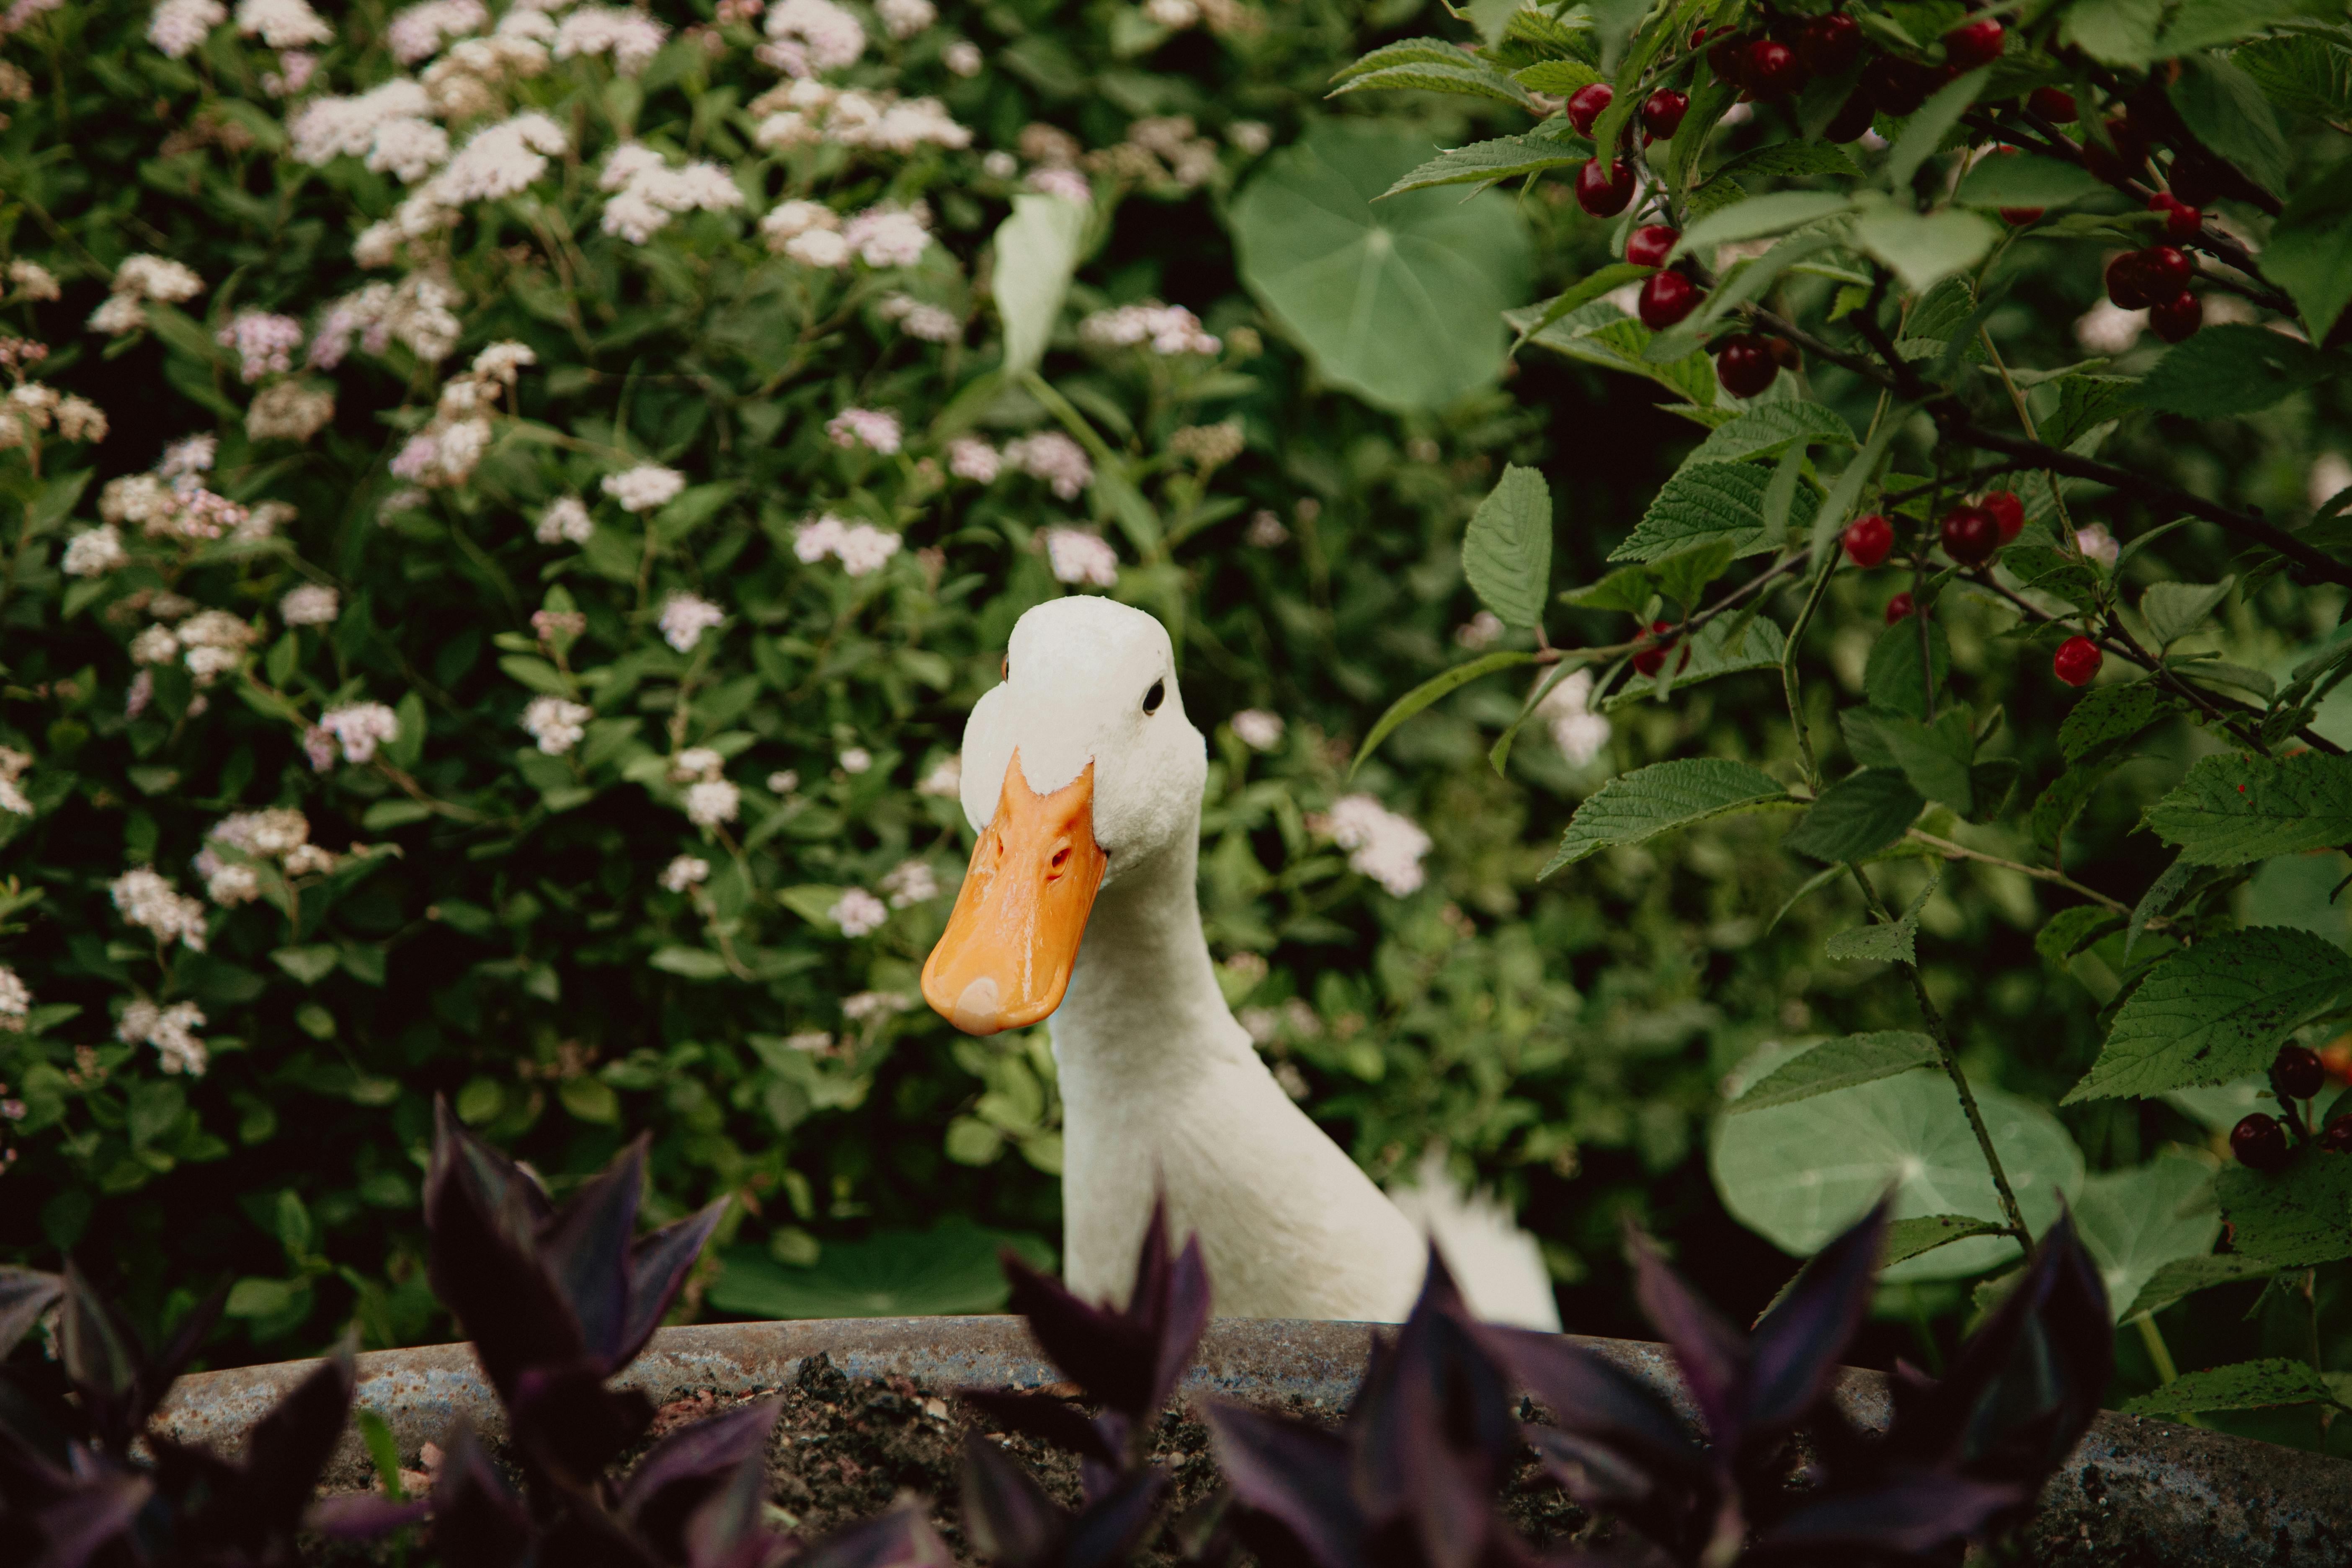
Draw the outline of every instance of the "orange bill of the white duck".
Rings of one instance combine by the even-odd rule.
[[[1051,1013],[1108,860],[1094,842],[1094,764],[1037,795],[1014,752],[948,933],[922,966],[922,999],[964,1034],[1025,1030]]]

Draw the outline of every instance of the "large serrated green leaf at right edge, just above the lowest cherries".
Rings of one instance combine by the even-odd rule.
[[[2288,1032],[2336,1006],[2347,987],[2352,959],[2310,931],[2251,926],[2211,936],[2166,957],[2131,992],[2065,1105],[2260,1072]]]

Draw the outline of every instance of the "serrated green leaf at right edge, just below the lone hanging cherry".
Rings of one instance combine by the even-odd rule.
[[[2185,865],[2246,865],[2352,844],[2352,757],[2201,757],[2147,809],[2147,827],[2178,844]]]

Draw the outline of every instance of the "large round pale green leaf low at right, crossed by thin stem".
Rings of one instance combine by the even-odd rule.
[[[1999,1088],[1976,1088],[1976,1103],[2025,1222],[2042,1234],[2058,1199],[2082,1192],[2082,1150],[2039,1105]],[[1708,1166],[1731,1218],[1797,1255],[1820,1251],[1889,1187],[1898,1220],[2002,1218],[1952,1079],[1936,1070],[1717,1117]],[[2016,1255],[2009,1237],[1973,1237],[1898,1262],[1882,1279],[1962,1279]]]

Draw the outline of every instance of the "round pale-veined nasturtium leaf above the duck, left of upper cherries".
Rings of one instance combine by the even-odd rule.
[[[1435,155],[1428,136],[1322,122],[1232,205],[1242,282],[1324,381],[1383,409],[1442,409],[1503,374],[1503,310],[1526,303],[1510,197],[1458,188],[1376,200]]]

